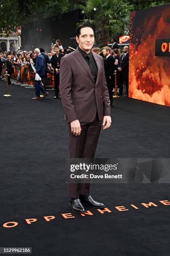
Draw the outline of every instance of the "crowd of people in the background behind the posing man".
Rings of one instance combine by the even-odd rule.
[[[40,53],[39,53],[40,51]],[[44,49],[40,48],[38,54],[43,55],[45,59],[45,73],[42,75],[41,82],[45,85],[45,80],[47,79],[47,73],[51,72],[54,74],[55,81],[55,95],[54,99],[59,96],[60,87],[60,61],[65,54],[70,54],[72,50],[70,48],[63,48],[59,39],[55,41],[55,44],[51,44],[50,52],[45,52]],[[128,46],[124,46],[123,53],[119,49],[119,45],[116,40],[112,38],[112,46],[103,47],[102,51],[98,47],[93,47],[92,51],[99,54],[104,59],[105,77],[107,81],[107,87],[110,95],[110,104],[112,107],[112,96],[115,93],[115,71],[117,74],[117,95],[122,95],[123,84],[126,86],[126,95],[128,96],[128,63],[129,54]],[[17,52],[0,52],[0,77],[3,77],[5,71],[13,77],[14,66],[22,67],[24,72],[22,77],[19,76],[20,80],[25,82],[25,77],[28,72],[28,68],[33,64],[36,65],[37,59],[36,51],[23,51],[19,49]],[[20,73],[20,72],[19,72]],[[10,76],[7,77],[8,84],[11,84]],[[37,86],[39,86],[39,83]],[[46,97],[46,96],[45,96]],[[40,99],[39,93],[36,94],[35,98]]]

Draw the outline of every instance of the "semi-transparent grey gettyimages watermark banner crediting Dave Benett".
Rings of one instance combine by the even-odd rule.
[[[72,158],[68,183],[170,183],[170,158]]]

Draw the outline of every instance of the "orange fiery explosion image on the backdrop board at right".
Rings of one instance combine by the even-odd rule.
[[[170,106],[170,57],[155,40],[170,38],[170,5],[131,13],[129,97]]]

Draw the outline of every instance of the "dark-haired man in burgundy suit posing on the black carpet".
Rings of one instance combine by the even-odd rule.
[[[70,158],[94,158],[100,135],[111,125],[111,109],[103,59],[91,51],[94,28],[83,23],[76,28],[78,48],[62,57],[60,96],[67,120]],[[85,212],[84,204],[103,208],[89,195],[90,183],[68,183],[70,206]]]

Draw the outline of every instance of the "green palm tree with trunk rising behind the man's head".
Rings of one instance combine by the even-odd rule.
[[[123,0],[87,0],[85,20],[95,24],[102,31],[101,46],[107,45],[111,33],[124,32],[129,28],[132,5]]]

